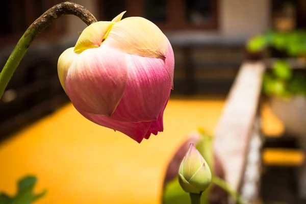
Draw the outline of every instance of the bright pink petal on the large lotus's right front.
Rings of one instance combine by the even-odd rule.
[[[126,54],[126,63],[129,79],[111,118],[131,122],[156,120],[172,85],[164,59]]]

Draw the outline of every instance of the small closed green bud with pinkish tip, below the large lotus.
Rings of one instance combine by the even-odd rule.
[[[187,193],[205,191],[212,180],[210,168],[200,152],[191,143],[179,169],[179,183]]]

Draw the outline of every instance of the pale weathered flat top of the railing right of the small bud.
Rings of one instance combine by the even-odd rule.
[[[242,64],[226,99],[215,130],[214,151],[225,173],[225,180],[236,191],[243,179],[250,138],[254,134],[262,79],[263,62]]]

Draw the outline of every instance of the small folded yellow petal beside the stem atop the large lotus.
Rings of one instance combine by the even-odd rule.
[[[74,53],[81,54],[85,49],[99,47],[115,22],[98,21],[90,24],[81,33]]]

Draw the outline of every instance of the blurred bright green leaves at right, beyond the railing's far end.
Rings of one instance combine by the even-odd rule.
[[[288,57],[306,57],[306,31],[290,32],[267,31],[262,35],[251,38],[247,49],[252,53],[261,52],[272,47],[284,52]],[[306,94],[306,71],[295,70],[286,60],[277,60],[272,71],[266,71],[263,80],[263,92],[268,96],[291,97]]]

